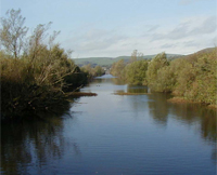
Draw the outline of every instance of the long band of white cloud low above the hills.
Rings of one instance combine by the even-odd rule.
[[[216,33],[216,16],[193,16],[183,18],[178,25],[144,25],[135,35],[130,28],[77,30],[63,44],[75,51],[73,57],[116,57],[130,55],[133,50],[144,55],[164,51],[189,54],[215,46]]]

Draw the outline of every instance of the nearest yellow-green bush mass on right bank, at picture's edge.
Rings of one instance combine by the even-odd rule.
[[[176,94],[195,102],[217,105],[216,51],[193,54],[186,58],[184,68],[177,79]]]

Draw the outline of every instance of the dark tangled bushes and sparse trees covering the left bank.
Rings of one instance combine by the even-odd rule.
[[[54,42],[59,32],[48,33],[50,23],[38,25],[30,35],[24,23],[21,10],[10,10],[7,18],[1,18],[1,119],[20,119],[28,112],[64,106],[72,95],[67,92],[101,73],[99,67],[92,75],[75,65],[72,51]]]

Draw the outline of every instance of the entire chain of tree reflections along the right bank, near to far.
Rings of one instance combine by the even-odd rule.
[[[118,79],[115,79],[115,84],[118,84]],[[116,92],[143,94],[148,93],[149,89],[148,86],[127,85],[126,90],[117,90]],[[148,97],[148,99],[145,99],[145,97]],[[148,93],[145,96],[129,97],[128,100],[135,112],[140,111],[141,108],[145,108],[145,103],[148,103],[150,116],[154,119],[156,124],[161,126],[166,126],[170,117],[188,125],[195,125],[195,123],[197,123],[201,136],[205,140],[216,144],[217,111],[199,104],[168,103],[167,99],[173,96],[168,93]]]

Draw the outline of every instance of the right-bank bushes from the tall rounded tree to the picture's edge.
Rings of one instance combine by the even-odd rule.
[[[173,92],[189,100],[217,105],[216,53],[215,48],[174,59],[169,65],[166,60],[157,64],[153,59],[148,68],[149,86],[157,92]]]

